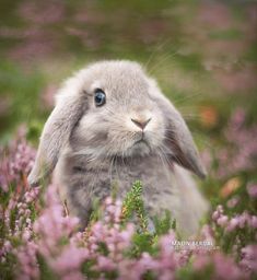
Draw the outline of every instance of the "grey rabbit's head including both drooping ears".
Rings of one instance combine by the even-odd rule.
[[[42,133],[32,185],[55,168],[68,143],[91,160],[156,153],[205,176],[180,114],[131,61],[96,62],[65,83]]]

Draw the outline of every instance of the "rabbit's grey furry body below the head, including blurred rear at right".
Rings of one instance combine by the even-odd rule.
[[[71,214],[80,218],[85,226],[93,199],[109,196],[113,186],[122,199],[132,184],[140,179],[143,200],[149,217],[163,214],[165,210],[177,221],[183,234],[196,233],[199,221],[209,203],[198,190],[191,175],[174,164],[167,167],[157,155],[133,159],[95,160],[66,152],[58,162],[55,179],[60,195]]]

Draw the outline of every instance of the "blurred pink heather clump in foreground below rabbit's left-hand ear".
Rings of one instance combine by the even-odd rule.
[[[58,276],[67,278],[69,275],[83,279],[79,271],[82,262],[89,257],[89,250],[79,247],[82,235],[78,234],[73,242],[69,241],[69,236],[77,230],[79,220],[63,214],[56,186],[48,186],[45,197],[46,208],[33,225],[38,236],[37,252],[45,257],[49,267]],[[68,243],[60,246],[63,238],[67,238]]]

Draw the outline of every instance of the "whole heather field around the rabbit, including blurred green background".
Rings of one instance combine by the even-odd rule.
[[[256,31],[254,0],[2,0],[0,279],[257,279]],[[186,119],[211,205],[197,236],[168,213],[150,231],[140,182],[84,231],[50,178],[28,186],[56,90],[102,59],[142,63]]]

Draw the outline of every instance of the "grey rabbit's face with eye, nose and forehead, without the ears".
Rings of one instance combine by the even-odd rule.
[[[90,75],[87,71],[81,73],[87,108],[71,137],[75,150],[97,158],[126,158],[161,149],[164,116],[151,96],[152,85],[141,68],[117,61],[89,70]]]

